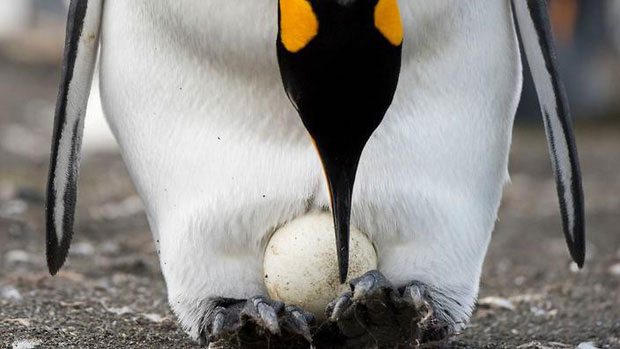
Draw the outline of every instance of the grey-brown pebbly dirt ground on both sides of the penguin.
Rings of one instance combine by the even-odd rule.
[[[196,347],[178,328],[118,155],[82,163],[77,233],[55,278],[43,197],[58,71],[0,59],[0,347]],[[445,347],[620,348],[620,125],[581,124],[588,259],[571,266],[544,135],[519,127],[480,305]]]

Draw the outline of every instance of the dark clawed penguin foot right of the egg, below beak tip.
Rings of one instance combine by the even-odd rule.
[[[332,333],[337,327],[342,346],[417,347],[454,333],[453,321],[437,311],[431,288],[421,282],[396,288],[373,270],[351,280],[350,288],[326,309],[325,327]]]

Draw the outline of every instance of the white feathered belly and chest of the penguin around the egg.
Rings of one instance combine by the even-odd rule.
[[[497,215],[521,63],[508,2],[402,3],[399,86],[367,144],[352,225],[396,286],[469,318]],[[266,295],[269,235],[328,210],[283,91],[271,0],[106,2],[104,111],[142,197],[169,302],[197,338],[212,297]],[[455,59],[458,57],[458,59]]]

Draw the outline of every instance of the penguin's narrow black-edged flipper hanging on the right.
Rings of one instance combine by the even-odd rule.
[[[542,110],[557,185],[564,235],[573,260],[583,266],[583,188],[572,121],[556,65],[547,0],[513,0],[521,41]]]

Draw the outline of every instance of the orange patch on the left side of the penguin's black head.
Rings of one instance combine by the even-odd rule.
[[[319,21],[308,0],[280,0],[280,39],[296,53],[318,34]]]

